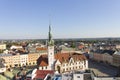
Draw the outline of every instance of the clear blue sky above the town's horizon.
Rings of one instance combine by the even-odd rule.
[[[0,0],[0,39],[120,37],[120,0]]]

